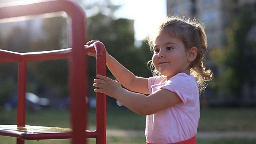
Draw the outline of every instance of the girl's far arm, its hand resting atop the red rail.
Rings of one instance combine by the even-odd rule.
[[[87,42],[90,45],[99,40],[91,40]],[[96,56],[95,52],[89,52],[89,56]],[[114,77],[128,90],[149,94],[148,78],[135,76],[132,72],[120,64],[114,57],[110,56],[106,51],[106,64]]]

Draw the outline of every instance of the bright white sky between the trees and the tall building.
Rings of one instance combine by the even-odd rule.
[[[144,40],[152,28],[166,18],[166,0],[111,0],[121,5],[116,11],[117,18],[134,20],[135,40]]]

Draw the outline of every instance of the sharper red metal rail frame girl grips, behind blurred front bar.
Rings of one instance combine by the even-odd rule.
[[[90,46],[84,46],[84,55],[88,52],[96,51],[96,74],[101,74],[106,76],[106,50],[104,44],[101,42],[94,42]],[[19,62],[19,83],[24,85],[26,83],[26,62],[28,61],[38,61],[38,60],[53,60],[60,58],[68,58],[72,53],[72,48],[66,48],[62,50],[50,50],[43,52],[26,52],[18,53],[7,50],[0,50],[0,62]],[[19,92],[26,91],[26,87],[19,87]],[[18,97],[19,103],[22,101],[21,105],[25,105],[24,97]],[[86,138],[96,138],[97,144],[106,144],[106,94],[96,93],[96,130],[95,131],[85,131]],[[21,115],[24,116],[24,115]],[[23,118],[21,118],[23,120]],[[21,120],[20,120],[21,121]],[[4,133],[0,130],[3,136],[12,136],[15,138],[26,138],[26,140],[36,140],[40,139],[60,139],[60,138],[72,138],[72,132],[58,133],[53,132],[50,135],[48,133],[40,134],[23,134],[22,132],[8,131]]]

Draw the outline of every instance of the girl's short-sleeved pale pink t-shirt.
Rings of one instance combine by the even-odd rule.
[[[168,81],[164,76],[153,76],[148,79],[148,89],[150,94],[159,89],[175,92],[182,103],[146,117],[147,142],[168,144],[196,136],[200,104],[198,85],[193,76],[179,73]]]

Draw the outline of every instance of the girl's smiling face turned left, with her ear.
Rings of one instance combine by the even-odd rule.
[[[152,62],[154,67],[169,80],[180,72],[190,73],[188,52],[184,43],[166,32],[160,32],[155,40]]]

